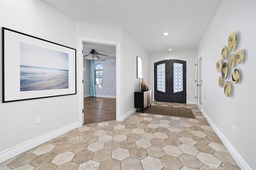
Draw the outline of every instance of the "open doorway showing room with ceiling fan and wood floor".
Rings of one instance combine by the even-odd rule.
[[[83,64],[84,124],[116,120],[116,46],[83,42]]]

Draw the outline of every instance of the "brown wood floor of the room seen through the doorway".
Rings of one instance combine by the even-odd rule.
[[[116,120],[115,98],[84,98],[84,124]]]

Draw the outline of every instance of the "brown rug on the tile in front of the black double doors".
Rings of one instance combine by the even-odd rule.
[[[139,109],[138,112],[142,113],[142,109]],[[146,108],[144,108],[144,113],[176,116],[176,117],[182,117],[182,118],[195,118],[190,108],[183,108],[183,107],[147,106]]]

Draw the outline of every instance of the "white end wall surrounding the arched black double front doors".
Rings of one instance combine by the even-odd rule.
[[[195,104],[195,59],[196,51],[169,52],[150,55],[150,87],[154,87],[154,63],[162,60],[183,60],[187,63],[187,103]],[[190,78],[190,80],[188,80]],[[191,79],[192,78],[192,79]],[[154,89],[153,89],[154,90]],[[154,96],[154,93],[153,93]],[[154,98],[153,98],[154,100]]]

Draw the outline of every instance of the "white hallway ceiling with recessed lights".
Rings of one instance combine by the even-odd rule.
[[[150,54],[196,50],[221,0],[44,0],[84,22],[124,29]],[[169,35],[163,36],[164,32]]]

